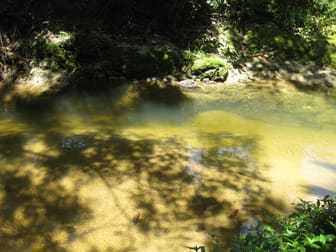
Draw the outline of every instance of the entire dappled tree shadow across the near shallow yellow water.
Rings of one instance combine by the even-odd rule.
[[[53,133],[41,141],[52,150],[36,153],[18,141],[16,156],[3,154],[0,242],[6,251],[68,251],[71,242],[102,230],[108,236],[98,237],[111,250],[97,239],[87,251],[136,251],[141,242],[122,244],[123,239],[150,243],[153,235],[182,249],[198,232],[210,231],[229,246],[250,216],[282,211],[267,199],[265,167],[254,158],[259,150],[253,137],[207,133],[201,144],[187,144],[174,135],[98,132],[72,138]],[[38,162],[33,172],[26,164],[15,167],[31,157]],[[70,189],[65,179],[73,181]],[[95,199],[113,206],[102,213],[104,221],[78,230],[98,218],[93,212],[100,206],[80,198],[93,184]],[[225,230],[228,236],[222,236]],[[113,244],[116,238],[120,243]]]

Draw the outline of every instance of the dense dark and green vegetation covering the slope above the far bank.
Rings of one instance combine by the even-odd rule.
[[[258,53],[335,67],[335,10],[332,0],[4,0],[1,79],[42,67],[75,80],[222,80],[228,62]]]

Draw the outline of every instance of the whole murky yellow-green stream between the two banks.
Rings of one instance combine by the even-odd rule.
[[[289,83],[1,106],[5,251],[188,251],[336,192],[336,101]]]

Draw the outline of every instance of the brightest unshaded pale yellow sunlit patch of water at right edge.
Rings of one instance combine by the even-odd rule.
[[[264,133],[266,134],[260,146],[263,155],[260,158],[269,166],[268,176],[272,181],[274,194],[282,195],[293,202],[298,197],[309,196],[307,191],[309,192],[311,186],[327,186],[336,192],[336,186],[328,184],[330,172],[314,168],[311,162],[307,161],[306,154],[307,146],[324,150],[335,148],[335,134],[292,127],[274,127],[272,131]],[[324,155],[328,158],[333,157],[333,154],[327,152],[324,152]]]

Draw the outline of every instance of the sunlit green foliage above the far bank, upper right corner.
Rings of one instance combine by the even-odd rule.
[[[282,58],[334,65],[327,36],[336,21],[333,0],[209,0],[233,28],[252,37],[249,49]],[[270,29],[271,27],[271,29]],[[252,36],[249,33],[253,33]],[[277,34],[276,34],[277,33]],[[235,44],[239,48],[239,43]]]

